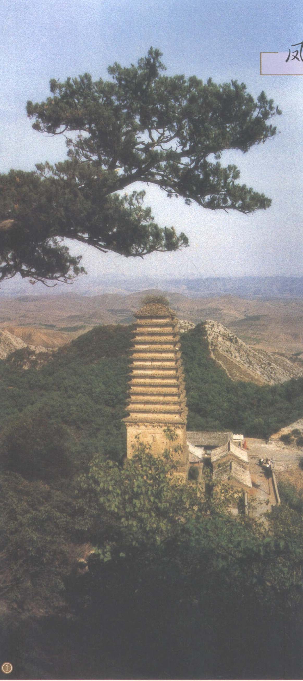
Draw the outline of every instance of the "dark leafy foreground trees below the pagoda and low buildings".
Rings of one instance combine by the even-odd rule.
[[[264,531],[231,518],[224,498],[217,505],[182,484],[173,465],[142,448],[124,468],[95,457],[72,507],[49,488],[42,499],[38,486],[17,518],[14,508],[4,514],[17,535],[10,558],[22,545],[29,588],[5,622],[16,678],[302,678],[296,492]],[[96,547],[82,574],[68,564],[68,535]],[[16,617],[22,607],[27,627]]]

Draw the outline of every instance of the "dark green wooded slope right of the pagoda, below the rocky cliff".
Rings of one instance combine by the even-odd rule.
[[[303,379],[259,386],[234,382],[210,360],[202,324],[181,337],[189,430],[244,432],[268,437],[303,415]]]

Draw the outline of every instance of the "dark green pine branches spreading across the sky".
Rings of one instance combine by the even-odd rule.
[[[270,206],[219,159],[276,134],[272,99],[261,92],[255,101],[234,80],[164,72],[161,52],[150,48],[137,66],[109,67],[111,80],[51,80],[46,101],[27,103],[35,130],[66,137],[67,159],[0,176],[0,281],[17,272],[44,283],[73,279],[84,270],[65,238],[126,257],[187,246],[185,234],[155,223],[144,191],[123,193],[134,183],[211,210]]]

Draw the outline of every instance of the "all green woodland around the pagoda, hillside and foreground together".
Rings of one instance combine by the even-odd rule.
[[[302,678],[302,495],[281,486],[264,530],[174,477],[170,439],[122,466],[130,338],[96,328],[41,370],[0,363],[5,659],[15,678]],[[189,428],[302,416],[301,380],[232,383],[201,325],[181,342]]]

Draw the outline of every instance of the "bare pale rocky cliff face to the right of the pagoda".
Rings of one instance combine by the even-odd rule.
[[[302,367],[276,353],[246,345],[217,321],[208,319],[205,328],[212,358],[233,381],[274,385],[303,376]]]

